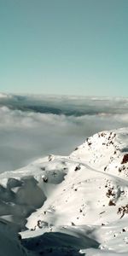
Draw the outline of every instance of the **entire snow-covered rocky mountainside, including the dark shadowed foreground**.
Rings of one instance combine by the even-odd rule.
[[[0,256],[128,255],[128,128],[0,181]]]

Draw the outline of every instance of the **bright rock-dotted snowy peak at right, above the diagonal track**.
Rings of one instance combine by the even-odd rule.
[[[127,176],[128,130],[99,132],[87,138],[70,156],[112,175]]]

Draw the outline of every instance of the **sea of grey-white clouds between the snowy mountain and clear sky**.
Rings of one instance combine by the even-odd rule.
[[[0,94],[0,172],[70,154],[97,131],[127,125],[127,98]]]

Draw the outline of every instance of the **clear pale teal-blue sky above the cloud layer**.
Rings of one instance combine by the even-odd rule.
[[[0,91],[128,96],[127,0],[0,0]]]

